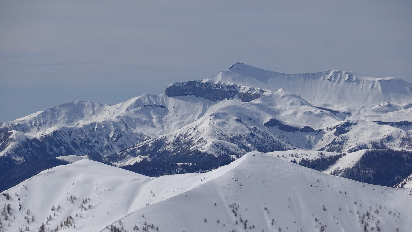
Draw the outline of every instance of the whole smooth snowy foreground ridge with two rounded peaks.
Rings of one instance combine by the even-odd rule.
[[[411,232],[411,191],[330,176],[260,152],[207,173],[159,178],[82,159],[3,192],[1,230],[37,231],[44,223],[45,231],[131,232],[146,224],[146,231],[164,232]]]

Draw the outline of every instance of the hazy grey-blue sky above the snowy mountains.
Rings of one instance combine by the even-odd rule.
[[[235,62],[412,82],[412,1],[0,0],[0,121],[115,104]]]

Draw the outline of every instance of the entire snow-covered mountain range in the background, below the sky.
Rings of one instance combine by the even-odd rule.
[[[235,63],[117,105],[71,102],[0,124],[0,156],[89,155],[119,166],[253,150],[407,148],[412,83],[349,71],[284,74]]]

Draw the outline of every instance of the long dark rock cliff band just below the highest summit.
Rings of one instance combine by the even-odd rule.
[[[254,88],[250,88],[251,91],[255,91]],[[212,84],[208,82],[197,82],[197,81],[187,81],[187,82],[178,82],[170,84],[165,91],[166,96],[187,96],[194,95],[197,97],[206,98],[211,101],[231,99],[238,94],[239,99],[242,102],[249,102],[255,99],[260,98],[265,93],[264,90],[259,90],[259,93],[249,93],[249,92],[240,92],[239,86],[237,85],[221,85],[221,84]]]

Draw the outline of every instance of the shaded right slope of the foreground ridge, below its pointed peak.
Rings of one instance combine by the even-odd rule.
[[[378,225],[382,231],[411,231],[411,189],[328,176],[258,152],[236,162],[235,169],[185,192],[187,197],[139,209],[123,218],[122,225],[130,231],[145,221],[164,231],[243,231],[242,218],[248,220],[246,231],[320,231],[326,225],[325,231],[339,232],[362,231],[363,220],[368,230]],[[230,204],[236,204],[237,216]],[[367,211],[370,216],[363,218]],[[249,229],[251,225],[255,228]]]

